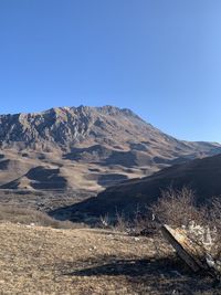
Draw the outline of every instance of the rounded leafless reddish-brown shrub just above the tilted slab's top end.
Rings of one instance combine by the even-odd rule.
[[[204,224],[207,210],[197,208],[194,193],[183,187],[181,190],[168,189],[161,192],[161,198],[151,207],[156,219],[173,226],[188,225],[191,220]]]

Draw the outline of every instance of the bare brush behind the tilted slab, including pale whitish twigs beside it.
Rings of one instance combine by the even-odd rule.
[[[201,208],[194,204],[194,194],[191,190],[182,188],[181,190],[168,189],[162,192],[158,202],[152,206],[152,212],[161,224],[169,224],[173,228],[182,225],[192,230],[194,242],[199,242],[211,257],[215,261],[221,259],[221,199],[215,198],[210,206]],[[196,226],[197,225],[197,226]],[[199,226],[200,225],[200,226]],[[193,226],[193,228],[192,228]],[[196,226],[196,228],[194,228]],[[201,229],[203,230],[200,233]],[[204,243],[206,232],[210,235],[209,249]],[[204,235],[206,234],[206,235]],[[202,241],[201,241],[202,239]],[[208,241],[207,241],[208,243]],[[219,268],[218,266],[215,266]],[[219,271],[221,272],[221,271]]]

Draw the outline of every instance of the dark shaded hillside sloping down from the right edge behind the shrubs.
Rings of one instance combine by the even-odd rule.
[[[65,209],[51,212],[59,217],[69,212],[69,218],[81,219],[83,215],[95,217],[116,214],[116,211],[130,214],[137,208],[143,210],[160,197],[161,190],[189,187],[196,193],[198,203],[221,196],[221,155],[196,159],[183,165],[165,168],[150,177],[124,181],[107,188],[96,198],[91,198]]]

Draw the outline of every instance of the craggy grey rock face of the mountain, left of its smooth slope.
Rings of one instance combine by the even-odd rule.
[[[127,120],[126,120],[127,118]],[[128,118],[139,118],[128,109],[104,107],[54,107],[41,113],[0,116],[0,140],[4,147],[17,143],[31,147],[51,143],[53,148],[110,137],[116,130],[127,129]],[[140,119],[141,122],[141,119]],[[136,125],[138,122],[130,122]],[[21,145],[20,145],[21,146]]]

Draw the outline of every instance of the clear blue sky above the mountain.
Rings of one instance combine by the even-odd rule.
[[[0,113],[128,107],[221,141],[220,0],[0,0]]]

